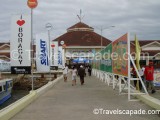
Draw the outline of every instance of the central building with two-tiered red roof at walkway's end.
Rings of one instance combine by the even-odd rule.
[[[65,44],[65,59],[67,64],[72,64],[75,59],[92,58],[95,52],[105,48],[112,41],[95,33],[94,28],[83,22],[69,27],[67,32],[54,41]],[[85,63],[85,61],[80,61]]]

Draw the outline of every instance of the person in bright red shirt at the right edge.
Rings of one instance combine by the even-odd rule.
[[[153,80],[154,80],[154,68],[153,68],[153,62],[149,62],[149,66],[146,66],[145,71],[144,71],[144,77],[146,80],[146,88],[147,91],[149,90],[149,85],[151,86],[151,93],[155,93],[156,90],[153,85]]]

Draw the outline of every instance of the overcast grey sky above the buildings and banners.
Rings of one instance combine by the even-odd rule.
[[[160,40],[160,0],[38,0],[34,9],[34,35],[46,32],[45,24],[49,22],[54,28],[51,38],[57,38],[79,22],[80,9],[84,15],[82,22],[99,34],[98,28],[103,27],[103,36],[110,40],[127,32],[131,33],[131,39],[137,34],[139,40]],[[27,0],[1,0],[0,42],[11,39],[14,14],[30,14]]]

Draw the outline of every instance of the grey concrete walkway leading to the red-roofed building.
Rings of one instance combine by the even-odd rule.
[[[61,80],[52,89],[11,120],[159,120],[158,115],[95,115],[95,108],[105,110],[151,110],[142,102],[128,102],[127,95],[118,95],[95,77],[85,77],[85,85],[71,86]]]

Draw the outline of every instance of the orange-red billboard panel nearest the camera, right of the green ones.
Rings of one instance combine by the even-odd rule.
[[[128,34],[112,43],[113,73],[128,77]]]

